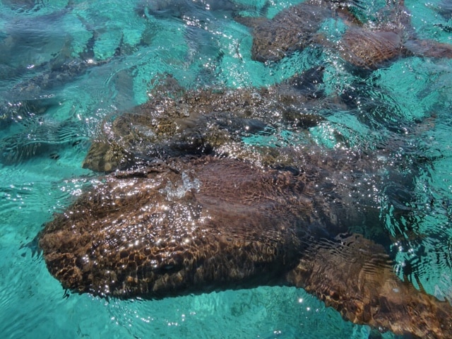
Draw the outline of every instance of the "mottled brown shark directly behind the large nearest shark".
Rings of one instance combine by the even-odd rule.
[[[244,136],[316,126],[323,100],[323,67],[314,67],[269,88],[184,90],[171,76],[157,79],[150,100],[102,124],[83,167],[97,172],[186,154],[215,153]],[[315,107],[315,109],[314,109]],[[242,148],[242,147],[241,147]]]

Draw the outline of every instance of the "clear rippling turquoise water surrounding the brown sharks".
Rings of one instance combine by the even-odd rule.
[[[171,1],[157,2],[163,6]],[[145,102],[152,79],[164,72],[187,88],[239,88],[278,83],[321,61],[328,95],[361,84],[362,102],[319,112],[327,120],[309,132],[329,148],[367,150],[396,133],[432,160],[410,192],[415,224],[394,219],[384,202],[382,218],[385,232],[397,239],[392,246],[395,269],[410,263],[427,292],[451,299],[452,60],[408,57],[359,79],[345,71],[334,52],[316,48],[261,64],[251,60],[249,30],[235,23],[227,8],[206,11],[177,7],[190,1],[173,2],[158,15],[144,17],[136,9],[138,0],[0,3],[3,338],[368,338],[367,326],[343,321],[300,289],[259,287],[107,302],[68,296],[48,273],[32,240],[54,212],[97,180],[97,174],[81,168],[90,138],[104,117]],[[369,1],[364,14],[371,16],[381,2]],[[296,3],[237,1],[242,14],[269,17]],[[441,1],[407,1],[407,6],[420,37],[452,44],[445,29],[452,18],[441,16]],[[332,19],[322,27],[337,36],[341,29]],[[81,57],[93,58],[97,65],[43,85],[42,76],[52,68],[59,73],[59,64],[80,62]],[[33,86],[39,81],[40,88]],[[301,142],[290,133],[266,142],[275,140]]]

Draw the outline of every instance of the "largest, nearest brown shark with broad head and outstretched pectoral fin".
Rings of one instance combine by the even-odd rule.
[[[375,192],[388,164],[279,152],[276,163],[296,165],[204,156],[110,174],[45,225],[50,273],[66,289],[119,298],[295,285],[354,323],[451,338],[447,302],[402,282],[383,246],[341,236],[382,227]]]

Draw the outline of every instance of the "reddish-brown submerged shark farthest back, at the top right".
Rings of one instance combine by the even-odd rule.
[[[416,37],[403,0],[388,1],[376,13],[376,22],[371,23],[361,23],[348,6],[347,1],[307,0],[281,11],[271,20],[250,17],[236,20],[251,27],[251,57],[262,62],[279,61],[311,44],[334,49],[360,69],[377,69],[387,61],[411,55],[452,58],[452,45]],[[328,18],[341,18],[347,25],[338,42],[330,42],[318,32]]]

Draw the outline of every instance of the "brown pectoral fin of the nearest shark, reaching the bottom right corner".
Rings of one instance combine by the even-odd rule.
[[[359,235],[311,246],[287,281],[353,323],[419,338],[452,338],[448,302],[401,281],[383,246]]]

